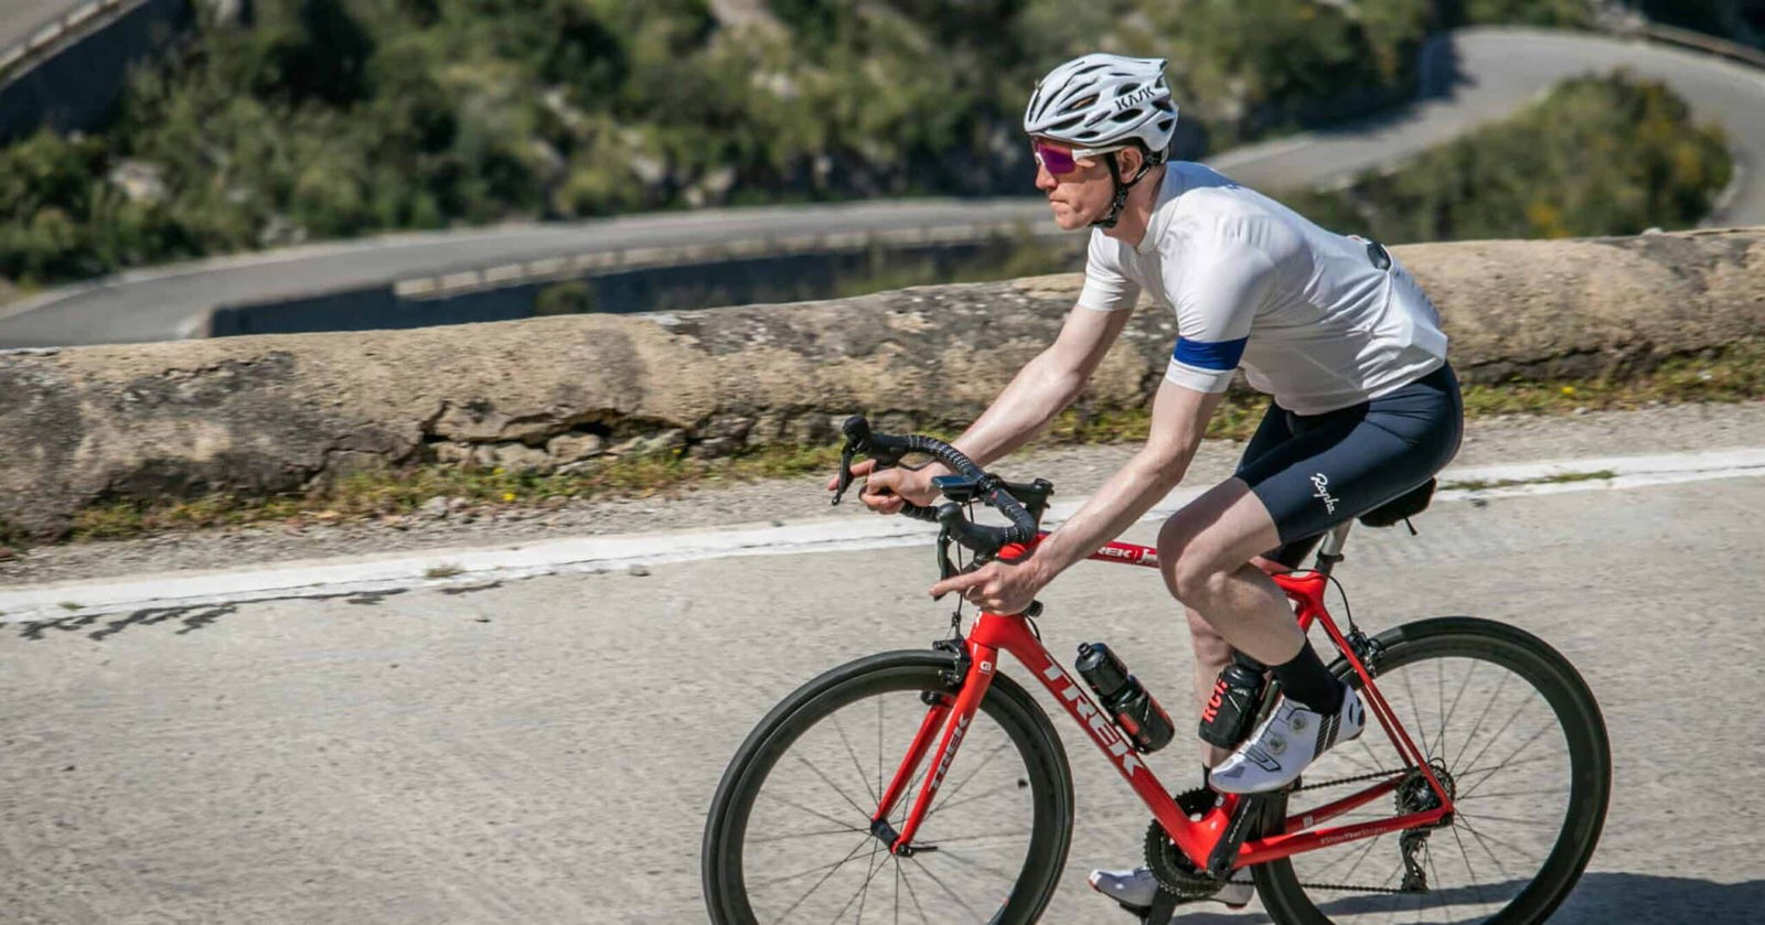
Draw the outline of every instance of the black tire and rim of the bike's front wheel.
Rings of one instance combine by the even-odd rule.
[[[805,733],[875,692],[950,692],[953,658],[937,651],[890,651],[835,667],[800,687],[748,734],[718,782],[704,828],[701,874],[713,925],[757,925],[748,902],[743,854],[754,801],[766,777]],[[1073,831],[1073,778],[1047,713],[1022,685],[995,673],[978,715],[997,722],[1027,771],[1033,824],[1024,867],[997,913],[997,925],[1036,921],[1059,886]],[[907,741],[893,743],[902,752]],[[957,754],[955,766],[962,766]],[[890,761],[898,761],[898,752]],[[927,756],[930,763],[930,756]],[[904,800],[916,796],[909,793]],[[861,819],[868,824],[868,819]],[[930,854],[935,858],[935,854]]]

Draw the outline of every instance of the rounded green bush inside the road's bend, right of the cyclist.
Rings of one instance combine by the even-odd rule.
[[[1698,222],[1731,177],[1719,125],[1661,83],[1560,83],[1527,111],[1347,189],[1283,201],[1387,242],[1634,235]]]

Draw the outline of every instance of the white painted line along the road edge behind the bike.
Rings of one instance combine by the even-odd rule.
[[[1588,473],[1610,473],[1610,477],[1585,478]],[[1574,475],[1583,478],[1564,478]],[[1440,473],[1440,482],[1446,487],[1437,498],[1463,501],[1747,477],[1765,477],[1765,448],[1447,468]],[[1167,517],[1198,496],[1200,491],[1177,489],[1147,512],[1142,521]],[[1045,521],[1048,524],[1059,523],[1078,510],[1084,501],[1084,498],[1073,498],[1050,505]],[[560,572],[604,572],[632,565],[727,556],[886,549],[925,544],[934,533],[934,526],[902,517],[840,517],[787,526],[577,537],[496,547],[293,561],[228,572],[175,572],[26,584],[0,590],[0,623],[65,620],[152,607],[198,607],[267,598],[471,586]]]

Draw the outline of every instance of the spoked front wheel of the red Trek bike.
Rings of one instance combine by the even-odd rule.
[[[927,717],[951,697],[951,657],[893,651],[808,681],[748,734],[704,830],[715,925],[784,921],[1031,923],[1059,884],[1073,826],[1066,752],[1036,701],[995,674],[914,854],[870,833],[881,794]],[[935,752],[935,748],[934,748]],[[927,756],[890,821],[920,793]]]

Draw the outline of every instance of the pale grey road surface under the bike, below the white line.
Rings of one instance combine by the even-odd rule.
[[[1513,621],[1599,697],[1611,812],[1553,921],[1765,914],[1761,507],[1765,478],[1733,478],[1442,503],[1421,537],[1350,540],[1338,574],[1368,628]],[[699,835],[725,761],[805,678],[937,637],[928,572],[927,549],[902,547],[0,625],[0,909],[19,925],[702,921]],[[1052,651],[1105,639],[1186,715],[1183,630],[1153,574],[1082,565],[1045,602]],[[1047,921],[1126,923],[1084,874],[1138,856],[1144,810],[1055,720],[1080,816]],[[1193,777],[1181,745],[1151,766]]]

